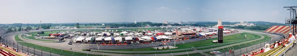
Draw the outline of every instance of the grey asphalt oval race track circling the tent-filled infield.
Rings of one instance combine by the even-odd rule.
[[[117,28],[119,29],[119,28]],[[124,29],[124,28],[123,28]],[[46,29],[46,30],[43,30],[43,31],[51,31],[51,30],[72,30],[72,29]],[[75,29],[75,30],[79,30],[79,29]],[[29,31],[30,32],[38,32],[38,30],[36,31]],[[249,31],[241,31],[241,32],[249,32]],[[17,35],[17,34],[22,34],[22,33],[27,33],[27,32],[16,32],[16,33],[9,33],[7,35],[5,35],[5,40],[6,39],[11,39],[14,41],[14,36]],[[263,33],[256,33],[256,32],[250,32],[250,33],[254,33],[254,34],[263,34]],[[231,33],[231,34],[235,34],[235,33]],[[225,34],[224,36],[226,35],[231,35],[231,34]],[[264,34],[264,35],[268,35],[268,36],[271,36],[272,37],[272,41],[274,41],[276,39],[279,38],[278,35],[274,35],[274,34]],[[20,37],[21,35],[19,35],[18,37]],[[32,44],[37,44],[38,45],[45,45],[45,47],[53,47],[55,46],[54,48],[56,49],[74,49],[74,50],[69,50],[69,51],[75,51],[75,50],[81,50],[83,48],[97,48],[97,49],[132,49],[132,48],[144,48],[144,47],[156,47],[156,46],[159,46],[159,43],[151,43],[151,44],[137,44],[137,45],[68,45],[68,44],[65,44],[65,42],[62,42],[62,43],[41,43],[41,42],[34,42],[34,41],[31,41],[31,40],[28,40],[28,39],[23,39],[23,38],[20,38],[26,42],[32,42]],[[261,39],[261,38],[260,38]],[[190,39],[190,40],[186,40],[186,41],[177,41],[176,44],[181,44],[183,42],[195,42],[195,41],[200,41],[200,40],[203,40],[203,39]],[[11,42],[13,42],[11,41]],[[252,40],[253,41],[253,40]],[[10,44],[11,42],[7,42],[8,44]],[[266,42],[267,43],[267,42]],[[173,45],[174,42],[169,42],[169,45]],[[15,47],[17,48],[17,44],[14,44]],[[264,43],[262,43],[262,47],[263,47]],[[12,44],[11,44],[12,46]],[[21,45],[18,45],[18,48],[21,49]],[[255,48],[256,45],[253,46],[253,49],[256,49]],[[198,47],[197,47],[198,48]],[[251,47],[250,47],[251,48]],[[260,44],[258,44],[258,48],[260,48]],[[24,47],[23,48],[24,51],[27,51],[27,47]],[[208,51],[208,50],[203,50],[203,51]],[[202,51],[202,52],[203,52]],[[236,50],[238,51],[238,50]],[[243,48],[241,51],[246,51],[245,48]],[[248,52],[251,51],[251,49],[248,49]],[[29,48],[29,52],[30,53],[34,53],[34,49],[32,48]],[[82,53],[88,53],[87,51],[75,51],[75,52],[82,52]],[[200,51],[192,51],[192,52],[189,52],[190,53],[197,53]],[[242,52],[242,53],[246,53],[246,52]],[[35,54],[40,56],[41,55],[41,51],[40,50],[35,50]],[[111,53],[99,53],[99,52],[89,52],[89,54],[94,54],[94,55],[110,55],[110,56],[119,56],[120,54],[111,54]],[[173,55],[183,55],[183,54],[186,54],[186,53],[173,53]],[[238,53],[239,55],[240,53]],[[42,52],[42,55],[45,55],[45,56],[50,56],[50,53],[49,52]],[[57,54],[51,54],[53,56],[60,56],[60,55],[57,55]],[[155,56],[155,54],[151,54],[151,55],[141,55],[141,56]],[[157,56],[166,56],[166,55],[171,55],[171,54],[157,54]],[[224,53],[223,54],[218,54],[218,55],[222,55],[224,56]],[[138,56],[137,54],[136,55],[125,55],[125,54],[121,54],[121,56]]]

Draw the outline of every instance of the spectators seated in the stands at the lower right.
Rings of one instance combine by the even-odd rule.
[[[294,36],[295,35],[295,36]],[[289,33],[289,35],[286,36],[286,38],[278,40],[278,41],[274,41],[274,43],[272,44],[266,44],[264,47],[259,48],[257,50],[254,50],[252,52],[248,52],[239,56],[254,56],[260,53],[265,53],[269,50],[272,50],[280,45],[283,45],[285,47],[289,46],[290,43],[293,43],[292,45],[290,45],[290,49],[292,49],[292,47],[296,44],[296,36],[297,36],[297,32],[295,34]],[[295,42],[294,42],[295,41]],[[290,50],[289,49],[289,50]]]

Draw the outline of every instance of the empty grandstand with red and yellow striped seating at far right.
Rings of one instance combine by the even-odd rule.
[[[295,29],[296,26],[291,27],[291,29]],[[265,33],[282,33],[282,34],[289,34],[290,33],[290,26],[272,26],[264,31]],[[293,32],[293,30],[292,30]]]

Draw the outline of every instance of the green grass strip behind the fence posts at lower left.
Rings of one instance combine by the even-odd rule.
[[[23,44],[24,42],[19,42],[19,44]],[[24,43],[23,46],[28,46],[29,43]],[[29,45],[29,48],[34,48],[35,44],[30,44]],[[41,50],[43,46],[40,46],[40,45],[36,45],[35,49],[36,50]],[[42,51],[45,51],[45,52],[50,52],[52,48],[51,47],[43,47]],[[53,50],[51,51],[51,53],[54,53],[54,54],[60,54],[62,50],[60,49],[55,49],[53,48]],[[63,52],[61,53],[61,55],[63,56],[72,56],[73,52],[72,51],[67,51],[67,50],[63,50]],[[80,52],[74,52],[74,55],[73,56],[86,56],[87,54],[86,53],[80,53]],[[92,55],[92,54],[89,54],[88,56],[98,56],[98,55]],[[105,56],[105,55],[104,55]]]

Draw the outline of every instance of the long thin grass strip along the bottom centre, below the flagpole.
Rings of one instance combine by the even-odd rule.
[[[83,50],[87,51],[87,50]],[[173,52],[151,52],[151,53],[116,53],[116,52],[103,52],[103,53],[114,53],[114,54],[166,54],[166,53],[179,53],[179,52],[190,52],[193,50],[182,50],[182,51],[173,51]],[[99,51],[91,51],[91,52],[99,52]]]

